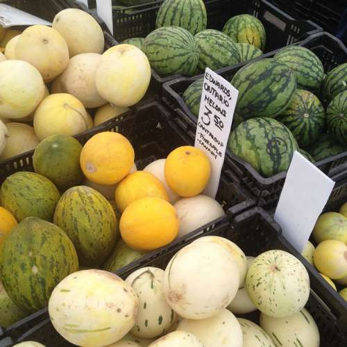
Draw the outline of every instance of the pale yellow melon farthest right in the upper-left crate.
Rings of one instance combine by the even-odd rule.
[[[96,89],[103,99],[127,107],[139,102],[149,87],[151,66],[146,55],[131,44],[103,53],[96,69]]]

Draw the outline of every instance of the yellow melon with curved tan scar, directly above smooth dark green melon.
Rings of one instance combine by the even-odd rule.
[[[73,136],[83,133],[89,124],[90,115],[81,101],[65,93],[47,96],[34,116],[35,133],[41,141],[56,134]]]

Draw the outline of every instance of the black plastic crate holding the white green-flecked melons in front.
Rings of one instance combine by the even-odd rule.
[[[235,242],[246,255],[259,255],[269,249],[283,249],[288,251],[285,239],[281,237],[281,230],[277,223],[269,216],[267,212],[261,208],[253,208],[239,214],[231,223],[222,223],[219,226],[211,228],[210,230],[198,230],[193,232],[185,239],[177,240],[168,246],[161,254],[152,257],[149,260],[138,260],[137,269],[144,266],[157,266],[162,269],[167,266],[171,257],[187,244],[201,237],[201,232],[204,231],[203,236],[218,235],[226,237],[232,242]],[[296,253],[294,255],[297,256]],[[126,278],[134,269],[121,274],[122,278]],[[311,274],[310,274],[311,279]],[[316,295],[316,282],[312,282],[312,289],[309,301],[305,306],[306,309],[314,317],[321,335],[321,347],[345,347],[346,340],[344,340],[337,319],[329,308]],[[257,321],[258,314],[242,315],[245,318]],[[11,343],[34,340],[40,341],[46,346],[71,346],[67,341],[64,341],[58,332],[56,332],[49,321],[49,318],[44,319],[37,325],[33,326],[31,330],[24,332],[24,334],[17,337],[17,339],[10,339],[10,337],[0,341],[1,346],[11,346]]]

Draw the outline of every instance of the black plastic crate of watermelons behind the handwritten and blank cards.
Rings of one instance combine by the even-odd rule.
[[[337,65],[347,62],[346,46],[329,33],[316,33],[303,42],[296,44],[311,49],[311,51],[316,53],[323,62],[325,71],[330,71]],[[267,53],[260,58],[271,58],[275,53],[276,51]],[[217,72],[226,80],[231,81],[232,76],[241,67],[242,65],[226,67]],[[190,84],[201,77],[203,75],[194,78],[178,78],[163,85],[162,100],[174,111],[172,113],[177,124],[185,132],[189,133],[191,137],[195,136],[197,118],[187,108],[182,94]],[[257,198],[257,205],[266,209],[273,207],[273,205],[276,206],[285,183],[286,171],[270,178],[263,178],[250,164],[233,155],[229,150],[227,150],[226,161],[231,171],[235,174],[236,180],[246,186]],[[347,152],[321,160],[316,165],[330,178],[341,180],[344,176],[347,176]]]

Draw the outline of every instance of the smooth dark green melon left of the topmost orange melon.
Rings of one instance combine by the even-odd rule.
[[[80,166],[82,145],[69,135],[51,135],[37,145],[33,167],[63,192],[83,180]]]

